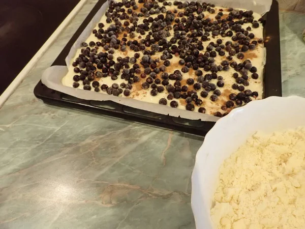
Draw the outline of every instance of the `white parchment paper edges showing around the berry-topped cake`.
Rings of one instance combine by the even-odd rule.
[[[182,0],[183,1],[183,0]],[[190,2],[190,1],[189,1]],[[202,1],[203,2],[203,1]],[[216,6],[221,7],[232,7],[232,8],[241,8],[247,10],[253,10],[256,13],[261,15],[265,14],[270,10],[272,0],[218,0],[218,1],[208,1],[214,3]],[[155,103],[149,103],[144,101],[139,101],[131,98],[116,97],[113,95],[97,93],[94,91],[85,91],[80,89],[74,89],[71,87],[64,86],[62,84],[63,77],[68,73],[68,66],[71,63],[71,60],[74,58],[77,49],[80,47],[81,42],[85,41],[96,24],[100,21],[101,17],[106,13],[109,7],[108,2],[103,4],[100,10],[96,13],[93,19],[88,23],[82,34],[76,40],[74,45],[71,47],[70,52],[66,58],[67,66],[52,66],[46,69],[42,75],[42,83],[45,84],[48,88],[63,92],[65,94],[86,99],[86,100],[97,100],[97,101],[107,101],[111,100],[119,104],[127,105],[133,108],[138,108],[146,111],[151,111],[155,113],[160,113],[162,115],[170,115],[172,117],[181,117],[190,120],[210,121],[216,122],[219,118],[211,115],[206,115],[199,112],[191,112],[188,110],[176,109],[169,106],[164,106]]]

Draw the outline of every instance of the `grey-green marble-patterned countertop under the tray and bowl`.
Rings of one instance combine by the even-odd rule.
[[[195,228],[191,172],[202,137],[49,106],[33,94],[96,2],[0,109],[0,228]],[[305,15],[280,20],[283,96],[305,97]]]

